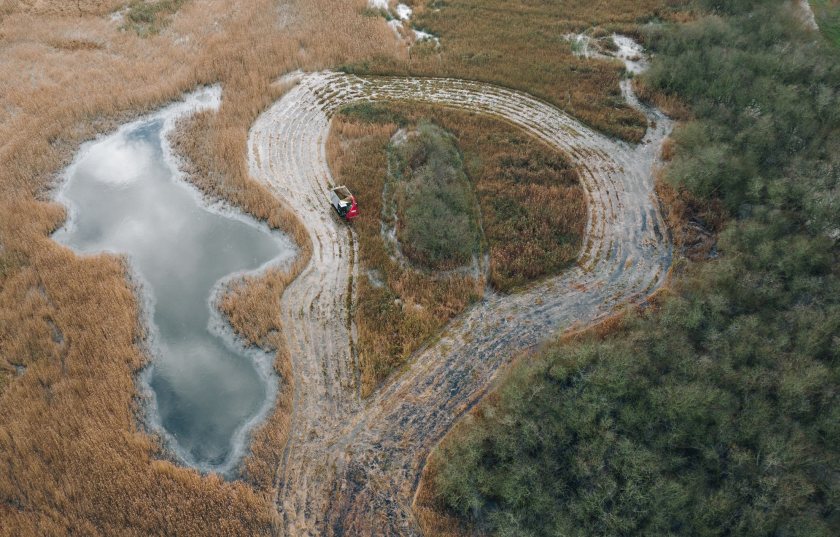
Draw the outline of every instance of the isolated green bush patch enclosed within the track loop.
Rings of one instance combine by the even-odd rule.
[[[481,228],[455,137],[421,122],[391,144],[393,202],[400,247],[431,269],[466,265],[479,255]]]

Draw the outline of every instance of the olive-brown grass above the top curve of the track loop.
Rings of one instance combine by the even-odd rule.
[[[676,0],[425,0],[409,2],[413,23],[440,37],[415,45],[408,60],[380,58],[352,70],[454,76],[527,91],[593,127],[638,141],[644,116],[624,102],[619,62],[572,54],[568,33],[633,33],[638,22],[679,17]]]

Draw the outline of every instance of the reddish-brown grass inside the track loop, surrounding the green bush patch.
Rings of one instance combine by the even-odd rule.
[[[575,259],[586,199],[563,155],[496,119],[412,103],[377,110],[406,124],[431,120],[456,136],[481,208],[494,287],[511,290],[556,274]],[[478,299],[485,283],[406,270],[389,257],[380,215],[386,149],[396,130],[394,123],[339,115],[327,142],[336,180],[353,190],[362,207],[354,221],[362,266],[355,319],[365,395]]]

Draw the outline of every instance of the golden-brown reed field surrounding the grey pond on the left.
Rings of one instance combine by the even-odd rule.
[[[300,237],[247,177],[247,130],[282,91],[271,89],[278,75],[400,53],[386,27],[358,15],[362,3],[186,2],[146,39],[109,20],[122,2],[0,4],[0,533],[275,531],[285,414],[255,433],[244,472],[257,490],[154,460],[158,446],[135,417],[135,373],[147,358],[126,267],[51,241],[65,212],[46,191],[83,140],[218,81],[221,110],[185,126],[189,143],[178,144],[193,177]],[[279,347],[270,305],[289,277],[271,272],[225,297],[240,335]],[[284,358],[277,369],[288,378]]]

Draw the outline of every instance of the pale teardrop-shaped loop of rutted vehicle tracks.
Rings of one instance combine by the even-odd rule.
[[[622,89],[649,119],[637,146],[524,93],[451,79],[299,75],[298,85],[258,118],[249,139],[251,173],[289,202],[313,244],[311,262],[282,298],[295,372],[277,498],[288,534],[419,533],[411,502],[426,457],[499,368],[560,329],[588,324],[663,282],[671,245],[652,170],[672,123],[642,108],[629,81]],[[390,100],[502,118],[564,151],[589,196],[588,224],[575,267],[516,295],[488,294],[361,401],[347,311],[355,241],[326,204],[333,181],[325,141],[341,106]]]

